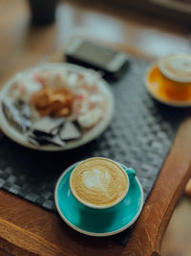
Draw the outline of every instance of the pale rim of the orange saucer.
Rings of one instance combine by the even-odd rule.
[[[157,101],[159,101],[159,103],[161,104],[165,104],[165,105],[170,105],[170,106],[179,106],[179,107],[188,107],[188,106],[191,106],[191,101],[173,101],[173,100],[164,100],[164,99],[161,99],[157,94],[153,93],[153,91],[150,89],[150,83],[148,81],[148,76],[150,74],[150,72],[156,67],[158,66],[158,64],[155,62],[153,64],[151,64],[149,66],[149,68],[146,70],[146,73],[145,73],[145,77],[144,77],[144,83],[146,85],[146,89],[147,91],[150,93],[150,95]]]

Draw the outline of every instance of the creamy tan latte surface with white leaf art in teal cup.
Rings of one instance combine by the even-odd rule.
[[[71,176],[74,196],[96,206],[109,206],[126,195],[126,174],[113,161],[88,159],[74,168]]]

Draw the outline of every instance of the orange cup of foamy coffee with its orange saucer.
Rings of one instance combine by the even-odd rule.
[[[147,89],[169,105],[191,102],[191,55],[172,54],[160,58],[146,73]]]

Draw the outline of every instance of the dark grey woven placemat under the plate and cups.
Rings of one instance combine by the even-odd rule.
[[[143,77],[148,63],[132,59],[127,74],[111,82],[116,115],[95,141],[73,151],[43,152],[23,148],[7,137],[0,140],[0,188],[55,210],[53,190],[69,165],[103,156],[133,167],[147,198],[170,149],[184,110],[159,105],[146,92]],[[115,236],[126,244],[131,228]]]

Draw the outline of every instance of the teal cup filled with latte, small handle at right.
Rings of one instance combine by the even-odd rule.
[[[77,163],[70,175],[70,190],[78,206],[92,213],[117,210],[136,176],[132,168],[103,157]]]

